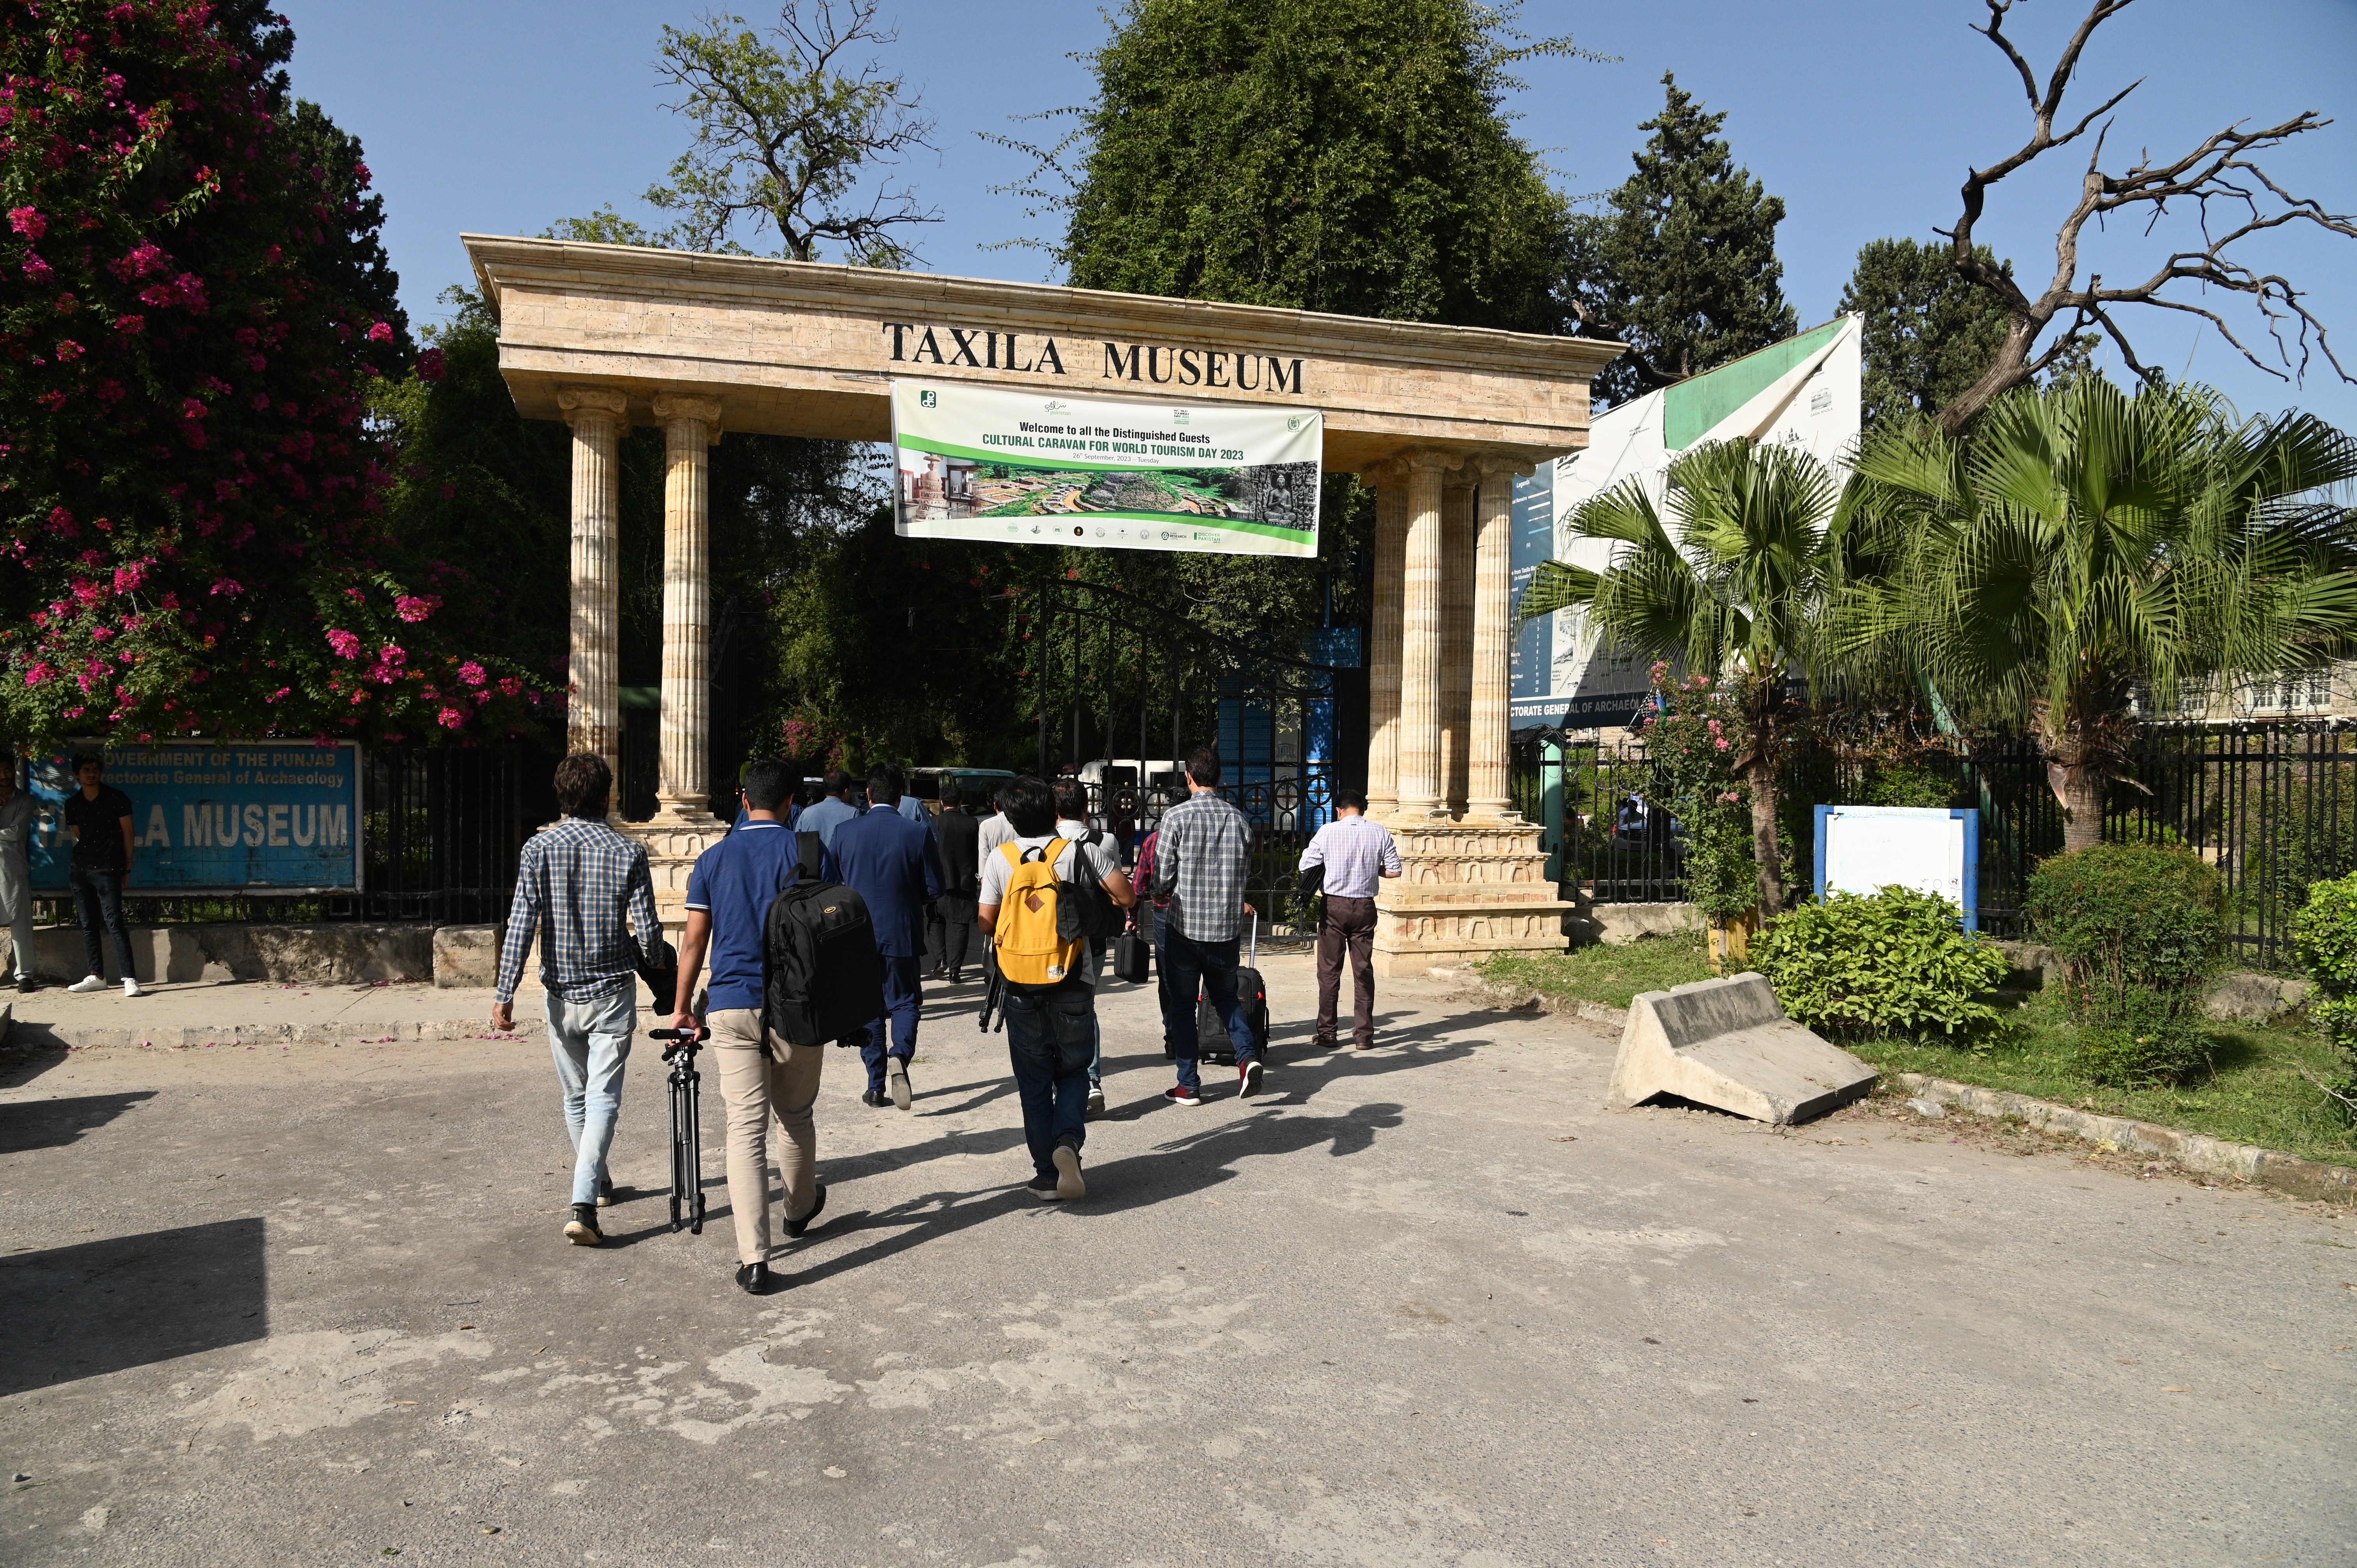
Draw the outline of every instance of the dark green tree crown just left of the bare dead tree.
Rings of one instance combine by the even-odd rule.
[[[1980,248],[1982,264],[1999,264]],[[1989,368],[2006,342],[2006,309],[1956,271],[1947,245],[1867,241],[1841,285],[1841,314],[1864,316],[1867,429],[1902,415],[1935,415]]]

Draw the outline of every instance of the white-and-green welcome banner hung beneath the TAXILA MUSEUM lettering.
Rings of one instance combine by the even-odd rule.
[[[1315,556],[1325,415],[891,384],[900,533]]]

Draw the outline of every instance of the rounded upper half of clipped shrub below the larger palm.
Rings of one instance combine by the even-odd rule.
[[[2185,849],[2095,844],[2041,861],[2022,898],[2072,1000],[2199,988],[2218,969],[2225,879]]]

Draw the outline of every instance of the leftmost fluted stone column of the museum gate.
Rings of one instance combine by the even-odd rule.
[[[629,398],[613,387],[559,387],[556,408],[573,427],[573,637],[566,660],[566,750],[603,757],[615,788],[606,809],[622,813],[622,564],[620,465],[615,446]]]

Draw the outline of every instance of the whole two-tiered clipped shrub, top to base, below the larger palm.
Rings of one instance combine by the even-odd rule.
[[[2095,844],[2039,863],[2022,901],[2062,960],[2095,1082],[2180,1082],[2209,1059],[2201,983],[2218,971],[2225,877],[2171,844]]]

